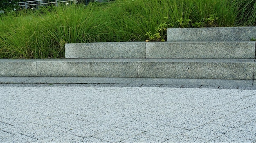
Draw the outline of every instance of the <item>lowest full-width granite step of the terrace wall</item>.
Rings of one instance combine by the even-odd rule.
[[[125,78],[256,78],[250,58],[0,59],[0,76]]]

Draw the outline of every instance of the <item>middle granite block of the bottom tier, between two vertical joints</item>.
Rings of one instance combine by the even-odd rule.
[[[55,59],[37,63],[38,76],[137,77],[134,59]]]

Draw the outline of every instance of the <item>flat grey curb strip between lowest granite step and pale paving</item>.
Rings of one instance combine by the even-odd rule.
[[[169,87],[256,89],[254,80],[99,77],[0,77],[3,86]]]

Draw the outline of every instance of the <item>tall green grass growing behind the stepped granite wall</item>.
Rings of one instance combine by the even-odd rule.
[[[180,27],[180,18],[202,26],[256,26],[255,1],[115,0],[8,13],[0,15],[0,58],[64,58],[65,43],[145,41],[162,22]],[[211,15],[218,19],[207,25]]]

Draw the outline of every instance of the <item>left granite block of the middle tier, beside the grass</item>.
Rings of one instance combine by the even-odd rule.
[[[145,58],[145,42],[67,43],[65,58]]]

